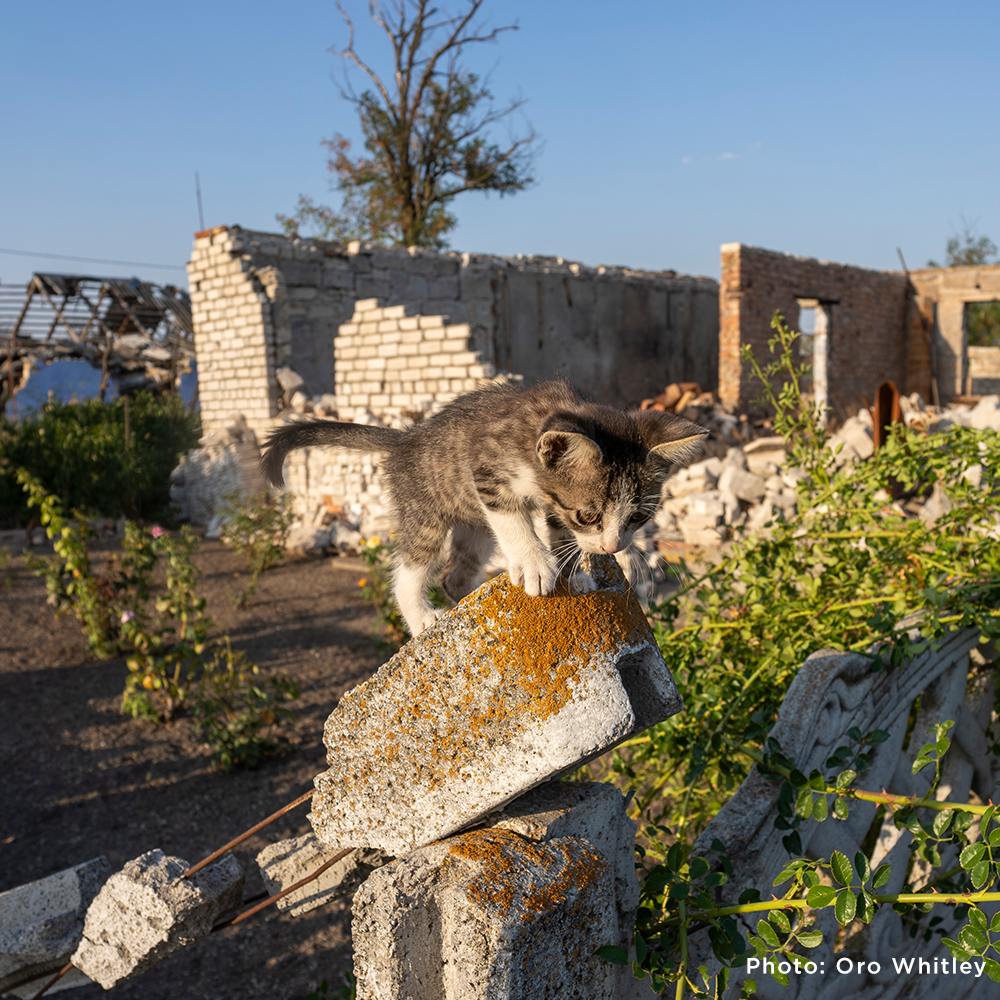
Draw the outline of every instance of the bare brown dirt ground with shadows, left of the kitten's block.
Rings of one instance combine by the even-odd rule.
[[[156,727],[122,715],[122,660],[89,659],[75,619],[56,621],[24,560],[0,571],[0,890],[105,855],[117,869],[152,848],[191,862],[311,787],[325,766],[323,721],[384,659],[357,559],[288,559],[266,572],[245,609],[230,594],[242,560],[206,541],[197,558],[208,613],[265,673],[302,687],[291,748],[258,770],[213,769],[190,719]],[[261,891],[253,861],[266,844],[309,830],[303,805],[245,841],[244,898]],[[117,1000],[301,1000],[321,980],[331,996],[351,968],[350,907],[304,917],[274,908],[171,955],[114,991]],[[105,995],[99,986],[65,994]]]

